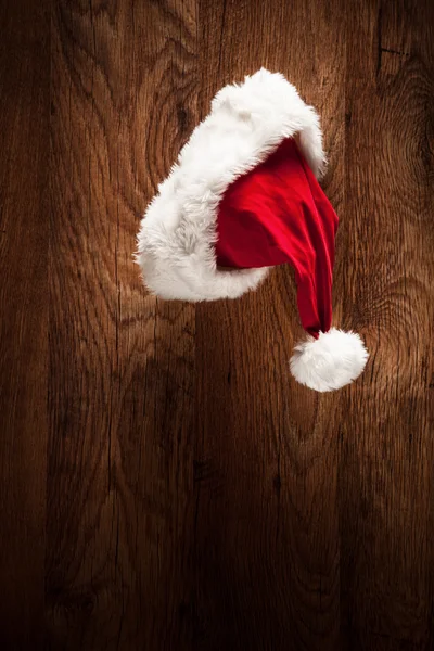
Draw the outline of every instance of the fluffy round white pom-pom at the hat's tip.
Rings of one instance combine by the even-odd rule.
[[[315,391],[333,391],[356,380],[369,354],[360,336],[332,328],[316,340],[301,342],[291,358],[295,380]]]

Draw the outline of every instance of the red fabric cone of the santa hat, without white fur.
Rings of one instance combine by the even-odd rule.
[[[218,208],[217,265],[290,263],[303,328],[318,339],[332,321],[337,215],[293,138],[226,190]]]

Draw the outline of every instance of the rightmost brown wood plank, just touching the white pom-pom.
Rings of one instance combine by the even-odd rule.
[[[344,291],[372,359],[342,421],[343,630],[352,649],[431,649],[433,5],[348,21]]]

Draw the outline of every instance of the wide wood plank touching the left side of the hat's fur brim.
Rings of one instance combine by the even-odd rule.
[[[140,215],[196,122],[193,2],[54,4],[47,599],[53,648],[191,649],[194,308]]]

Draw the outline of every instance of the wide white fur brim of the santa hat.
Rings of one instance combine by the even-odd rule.
[[[158,187],[138,235],[137,260],[163,298],[237,298],[268,268],[219,270],[214,244],[218,204],[238,177],[294,136],[314,173],[324,166],[319,118],[283,75],[261,68],[222,88]]]

